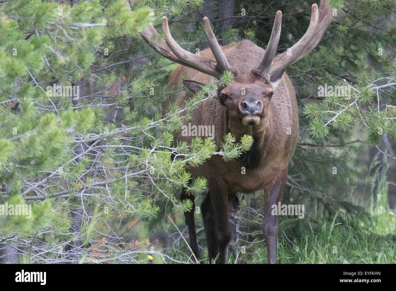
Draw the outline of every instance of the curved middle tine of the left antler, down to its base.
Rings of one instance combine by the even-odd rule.
[[[216,69],[217,64],[215,61],[207,59],[205,57],[200,57],[194,53],[190,53],[189,51],[182,49],[177,44],[177,42],[175,42],[169,31],[168,19],[166,18],[166,16],[162,17],[162,30],[164,30],[167,38],[165,40],[166,44],[179,59],[177,63],[194,68],[200,72],[214,76],[215,78],[220,78],[221,73],[219,72],[219,70]]]

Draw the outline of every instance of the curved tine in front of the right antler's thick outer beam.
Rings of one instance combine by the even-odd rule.
[[[319,20],[318,5],[313,4],[311,20],[307,32],[305,32],[304,36],[294,46],[292,46],[289,49],[290,51],[285,51],[284,53],[281,53],[280,55],[277,55],[274,58],[269,70],[270,75],[276,74],[277,72],[282,72],[289,65],[294,64],[295,62],[305,57],[308,53],[310,53],[310,50],[308,50],[307,47],[312,41],[312,39],[317,37],[316,30],[318,28],[318,20]]]

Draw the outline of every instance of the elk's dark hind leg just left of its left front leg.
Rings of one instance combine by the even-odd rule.
[[[215,232],[215,213],[213,211],[212,202],[210,200],[210,192],[206,194],[204,201],[201,204],[202,219],[204,220],[206,243],[208,244],[209,263],[217,256],[216,232]]]

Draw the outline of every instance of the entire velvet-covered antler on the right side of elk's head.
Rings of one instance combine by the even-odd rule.
[[[276,73],[283,72],[288,66],[308,55],[308,53],[316,47],[322,39],[327,27],[333,20],[332,11],[326,2],[326,0],[320,1],[319,10],[318,5],[312,5],[311,20],[307,32],[305,32],[304,36],[294,46],[289,48],[288,51],[274,57],[274,50],[276,50],[279,42],[278,33],[280,33],[281,21],[280,17],[278,17],[278,13],[280,11],[276,13],[274,27],[267,46],[267,50],[269,49],[270,52],[267,54],[267,50],[265,51],[259,67],[255,70],[256,74],[267,79],[268,76],[273,76]],[[279,19],[278,22],[277,17]]]

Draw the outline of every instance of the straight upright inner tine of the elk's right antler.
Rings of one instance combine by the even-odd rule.
[[[268,41],[267,48],[265,49],[263,59],[259,67],[255,70],[256,74],[269,78],[267,76],[272,60],[275,57],[276,49],[278,48],[280,30],[282,27],[282,11],[278,10],[275,15],[274,26],[272,27],[271,37]]]

